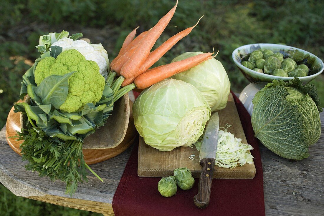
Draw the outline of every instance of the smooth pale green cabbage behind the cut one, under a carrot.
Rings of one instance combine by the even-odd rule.
[[[202,54],[203,52],[185,52],[174,58],[172,62]],[[195,86],[205,96],[212,111],[226,107],[231,84],[220,61],[209,59],[203,63],[172,76]]]

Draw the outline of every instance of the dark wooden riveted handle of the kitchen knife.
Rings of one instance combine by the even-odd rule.
[[[198,208],[204,209],[208,206],[210,200],[215,158],[203,158],[200,165],[203,169],[199,179],[198,194],[193,197],[193,202]]]

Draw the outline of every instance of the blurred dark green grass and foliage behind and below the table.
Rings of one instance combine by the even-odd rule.
[[[21,76],[38,57],[35,45],[48,32],[83,32],[93,43],[102,43],[112,60],[123,39],[135,27],[145,31],[175,1],[170,0],[2,0],[0,6],[0,128],[19,99]],[[220,60],[232,90],[248,82],[234,65],[231,53],[250,43],[281,43],[324,57],[324,2],[316,0],[179,0],[176,13],[156,46],[180,30],[194,25],[156,64],[169,63],[187,51],[220,50]],[[312,81],[324,101],[324,75]],[[14,196],[0,185],[0,215],[97,215]]]

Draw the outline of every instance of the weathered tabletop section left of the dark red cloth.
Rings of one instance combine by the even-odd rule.
[[[7,144],[4,127],[0,132],[0,182],[17,196],[36,199],[71,208],[89,210],[98,213],[113,214],[112,198],[133,149],[131,146],[120,155],[91,165],[103,180],[100,182],[91,173],[89,182],[79,184],[78,190],[71,198],[65,195],[65,184],[61,181],[52,182],[47,177],[26,171],[21,157]]]

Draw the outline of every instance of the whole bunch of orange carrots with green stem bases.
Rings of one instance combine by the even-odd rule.
[[[119,76],[113,81],[113,86],[115,86],[115,88],[119,88],[120,86],[123,87],[117,91],[116,95],[114,95],[114,100],[117,100],[126,92],[134,88],[147,88],[163,79],[186,71],[191,67],[202,63],[203,61],[215,57],[213,56],[214,52],[208,52],[184,59],[179,62],[173,62],[149,69],[179,40],[188,35],[191,30],[197,26],[199,20],[202,18],[200,17],[194,26],[172,36],[158,48],[156,48],[156,50],[150,52],[156,40],[160,37],[173,17],[177,5],[178,0],[176,5],[150,30],[142,32],[135,39],[133,39],[136,35],[137,27],[131,31],[124,40],[119,54],[110,63],[110,77],[112,79],[108,79],[112,82],[116,75]]]

